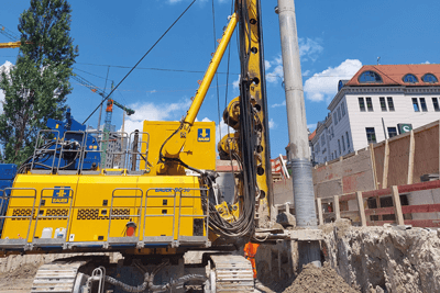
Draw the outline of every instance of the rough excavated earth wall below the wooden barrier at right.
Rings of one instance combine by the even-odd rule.
[[[440,292],[439,232],[391,225],[322,230],[326,260],[362,292]]]

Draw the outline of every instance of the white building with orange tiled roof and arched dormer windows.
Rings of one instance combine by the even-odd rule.
[[[323,164],[440,119],[440,65],[363,66],[340,80],[324,121],[310,136]]]

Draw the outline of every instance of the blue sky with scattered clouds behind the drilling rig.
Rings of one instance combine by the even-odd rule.
[[[213,1],[219,38],[231,12],[231,0]],[[2,2],[0,23],[18,34],[18,19],[29,8],[29,1]],[[110,65],[107,87],[111,80],[118,83],[189,3],[190,0],[70,1],[70,34],[79,46],[75,72],[103,88]],[[275,0],[262,1],[272,157],[285,154],[288,144],[276,4]],[[376,64],[378,56],[381,64],[439,64],[439,11],[438,0],[296,1],[310,129],[327,115],[338,80],[351,78],[362,65]],[[179,120],[185,114],[215,50],[213,40],[212,0],[198,0],[114,93],[114,100],[136,111],[128,117],[127,129],[142,128],[143,120]],[[0,42],[10,40],[0,34]],[[16,54],[18,49],[1,49],[0,65],[14,64]],[[227,72],[227,65],[224,58],[219,71]],[[229,102],[239,94],[239,66],[234,36],[229,81],[227,75],[219,75],[220,113],[226,99]],[[76,80],[72,83],[74,91],[67,103],[75,119],[82,122],[99,104],[100,97]],[[212,86],[198,120],[218,123],[216,80]],[[96,127],[97,121],[95,114],[88,124]],[[121,127],[121,110],[114,110],[112,122],[118,129]],[[219,128],[224,135],[224,125]]]

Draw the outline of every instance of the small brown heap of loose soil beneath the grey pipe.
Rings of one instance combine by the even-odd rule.
[[[301,273],[284,293],[359,293],[340,277],[328,262],[322,268],[309,263],[302,268]]]

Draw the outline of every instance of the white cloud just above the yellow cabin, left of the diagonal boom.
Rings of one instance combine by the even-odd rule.
[[[142,132],[144,120],[148,121],[177,121],[185,114],[191,101],[189,99],[169,104],[155,104],[155,103],[135,103],[131,104],[131,109],[135,109],[133,115],[127,116],[125,128],[127,133],[132,133],[135,129]]]

